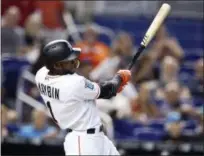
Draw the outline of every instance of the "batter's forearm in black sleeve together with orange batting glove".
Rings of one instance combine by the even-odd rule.
[[[110,81],[99,83],[100,95],[99,99],[110,99],[118,92],[121,92],[127,82],[130,80],[131,72],[129,70],[119,70]]]

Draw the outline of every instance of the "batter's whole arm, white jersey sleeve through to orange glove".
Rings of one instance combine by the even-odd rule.
[[[129,70],[119,70],[110,80],[99,84],[91,82],[85,78],[81,79],[76,85],[75,95],[79,99],[110,99],[116,96],[117,92],[122,91],[124,86],[130,80],[131,73]]]

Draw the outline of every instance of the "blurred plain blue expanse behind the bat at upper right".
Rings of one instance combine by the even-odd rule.
[[[124,30],[134,35],[136,45],[143,38],[146,29],[151,23],[151,18],[137,17],[107,17],[95,16],[94,21],[100,25],[109,27],[114,31]],[[179,21],[179,22],[178,22]],[[183,48],[203,49],[203,22],[202,20],[168,18],[166,21],[170,34],[177,37]],[[137,26],[137,28],[135,28]],[[192,33],[194,32],[194,33]]]

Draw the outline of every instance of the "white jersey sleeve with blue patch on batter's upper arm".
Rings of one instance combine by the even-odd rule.
[[[100,87],[97,83],[82,78],[77,84],[75,95],[84,100],[94,100],[100,95]]]

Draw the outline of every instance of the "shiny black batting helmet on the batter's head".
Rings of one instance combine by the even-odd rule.
[[[76,59],[81,52],[80,48],[72,48],[66,40],[54,40],[43,48],[45,66],[50,69],[56,62]]]

